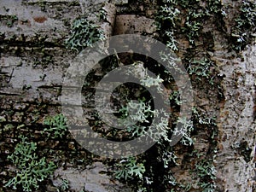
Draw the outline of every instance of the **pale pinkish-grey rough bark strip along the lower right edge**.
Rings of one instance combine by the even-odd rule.
[[[225,75],[224,108],[219,117],[218,179],[225,191],[252,191],[255,148],[255,46],[245,61],[218,58]]]

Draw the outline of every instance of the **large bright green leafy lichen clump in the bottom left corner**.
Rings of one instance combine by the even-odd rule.
[[[38,189],[39,182],[44,181],[55,171],[53,162],[47,162],[45,157],[39,158],[36,154],[37,143],[27,142],[21,137],[21,142],[15,147],[15,152],[8,159],[17,167],[16,176],[11,178],[5,187],[22,188],[23,191]]]

